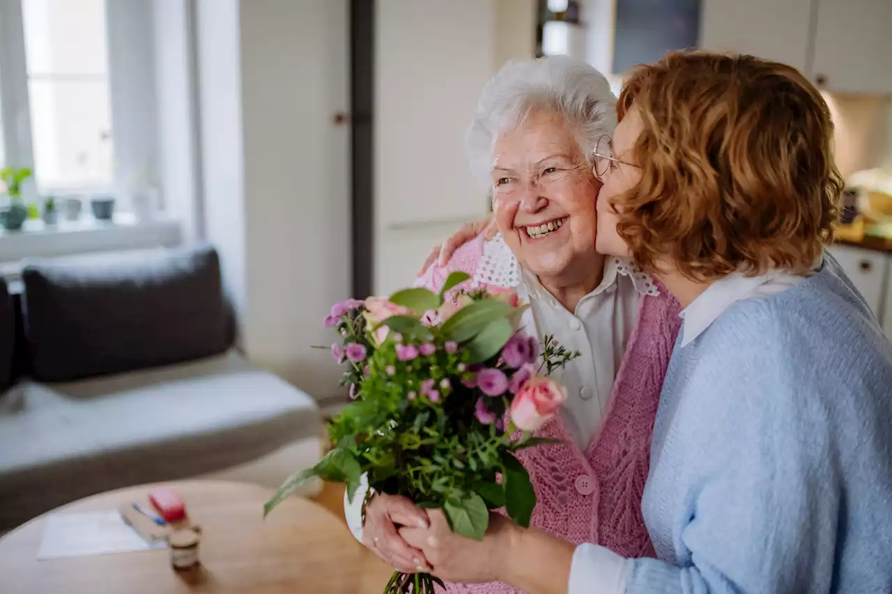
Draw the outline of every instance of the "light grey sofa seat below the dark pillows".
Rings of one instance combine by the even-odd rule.
[[[319,424],[310,396],[235,352],[24,381],[0,400],[0,532],[87,495],[244,464],[318,435]]]

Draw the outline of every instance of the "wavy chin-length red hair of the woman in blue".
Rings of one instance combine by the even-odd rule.
[[[642,176],[615,204],[640,266],[668,259],[699,282],[813,268],[843,181],[830,110],[805,77],[749,55],[673,52],[633,70],[620,120],[632,106]]]

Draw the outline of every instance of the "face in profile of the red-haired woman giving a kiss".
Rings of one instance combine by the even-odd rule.
[[[627,258],[629,247],[618,233],[614,207],[610,202],[616,196],[620,196],[632,189],[641,179],[641,169],[637,167],[632,155],[632,147],[641,133],[642,122],[637,107],[632,107],[626,112],[623,121],[616,126],[613,136],[613,156],[618,161],[609,161],[607,172],[601,176],[604,186],[598,194],[598,238],[595,246],[599,253],[608,256]],[[622,210],[621,203],[615,203],[616,210]]]

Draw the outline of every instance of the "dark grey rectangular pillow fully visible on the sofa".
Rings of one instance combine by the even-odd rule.
[[[25,338],[40,381],[198,359],[231,344],[210,246],[35,260],[21,277]]]

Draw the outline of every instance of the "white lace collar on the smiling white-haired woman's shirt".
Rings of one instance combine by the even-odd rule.
[[[635,290],[642,295],[656,297],[660,294],[654,279],[642,272],[632,260],[610,257],[605,266],[605,274],[612,275],[610,284],[615,283],[618,276],[629,276]],[[496,235],[488,242],[483,242],[483,257],[474,273],[475,284],[496,285],[506,287],[520,286],[523,282],[520,264],[508,247],[508,243],[502,239],[501,234]]]

